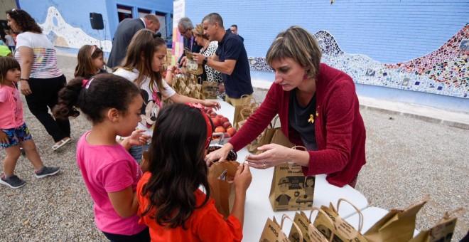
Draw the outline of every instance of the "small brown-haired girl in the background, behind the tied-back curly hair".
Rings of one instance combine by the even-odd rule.
[[[107,73],[104,70],[103,52],[96,45],[85,45],[80,48],[77,56],[77,67],[75,68],[75,78],[91,78],[93,75]]]

